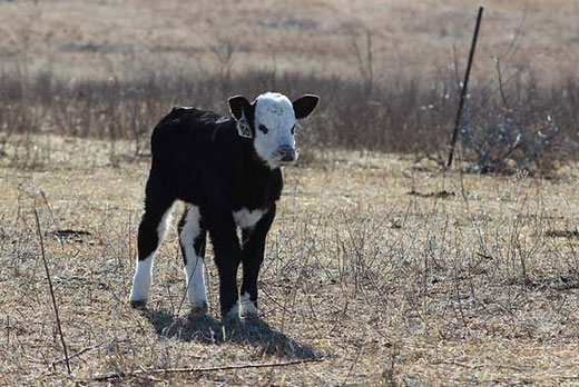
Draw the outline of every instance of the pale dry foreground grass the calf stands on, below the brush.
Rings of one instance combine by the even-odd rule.
[[[576,168],[543,180],[444,175],[373,153],[317,153],[286,170],[259,290],[262,320],[188,315],[171,230],[153,299],[129,307],[148,160],[130,146],[32,137],[33,162],[0,167],[0,380],[99,385],[140,369],[322,359],[298,366],[140,375],[120,385],[482,385],[579,383]],[[58,150],[57,150],[58,149]],[[32,151],[31,153],[32,155]],[[19,161],[19,162],[17,162]],[[42,190],[52,215],[39,191]],[[413,192],[409,195],[409,192]],[[445,194],[446,192],[446,194]],[[41,269],[41,215],[72,376]],[[89,235],[58,238],[57,230]]]

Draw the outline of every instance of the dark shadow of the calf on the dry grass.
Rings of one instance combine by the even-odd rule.
[[[181,318],[168,310],[141,309],[140,312],[163,338],[208,345],[248,345],[258,350],[258,356],[272,355],[294,359],[326,357],[326,354],[316,353],[311,346],[295,341],[259,318],[228,321],[195,314]]]

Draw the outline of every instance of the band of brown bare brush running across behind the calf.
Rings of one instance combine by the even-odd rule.
[[[216,73],[145,71],[130,79],[62,80],[47,72],[29,77],[24,83],[17,73],[4,70],[0,73],[0,150],[13,133],[43,130],[112,141],[131,139],[135,155],[141,155],[148,150],[151,128],[176,103],[225,115],[224,96],[254,97],[276,90],[290,97],[307,91],[322,96],[320,113],[300,131],[304,147],[442,159],[458,100],[450,72],[439,71],[428,80],[400,77],[379,81],[374,77],[370,87],[366,78],[359,81],[266,69],[233,73],[233,52],[225,51],[225,70]],[[532,75],[521,76],[501,88],[502,93],[487,85],[471,88],[462,127],[462,157],[471,170],[549,168],[547,159],[577,155],[576,80],[549,87],[539,85]]]

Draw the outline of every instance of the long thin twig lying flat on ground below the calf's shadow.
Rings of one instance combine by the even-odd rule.
[[[96,376],[90,381],[108,381],[111,379],[121,379],[125,377],[140,377],[143,375],[167,375],[167,374],[189,374],[189,373],[210,373],[218,370],[228,369],[246,369],[246,368],[272,368],[272,367],[286,367],[304,363],[317,363],[324,359],[304,359],[293,360],[284,363],[261,363],[261,364],[237,364],[228,366],[214,366],[214,367],[186,367],[186,368],[156,368],[156,369],[140,369],[134,371],[120,371],[108,375]]]

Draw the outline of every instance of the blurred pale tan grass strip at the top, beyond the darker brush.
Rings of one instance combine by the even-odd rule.
[[[357,77],[353,43],[373,36],[377,78],[423,76],[465,58],[479,1],[2,1],[0,63],[66,77],[158,69],[214,69],[214,49],[235,43],[235,69]],[[573,0],[491,0],[473,73],[534,69],[578,73],[579,6]],[[517,38],[517,44],[504,56]],[[275,58],[274,58],[275,57]]]

